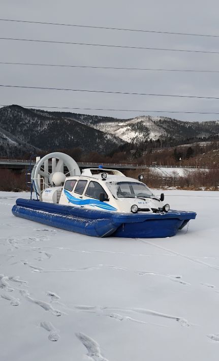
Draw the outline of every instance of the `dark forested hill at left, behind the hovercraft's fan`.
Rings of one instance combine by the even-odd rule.
[[[79,123],[68,116],[42,110],[25,109],[12,105],[0,109],[0,155],[10,153],[17,144],[17,151],[32,152],[33,148],[55,151],[61,148],[80,147],[82,151],[105,153],[124,141],[113,134]],[[7,137],[6,134],[7,133]],[[1,135],[2,134],[2,135]],[[23,147],[24,143],[28,143]],[[19,148],[19,149],[18,149]],[[13,152],[12,152],[13,153]]]

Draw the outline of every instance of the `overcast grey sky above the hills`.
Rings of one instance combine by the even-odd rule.
[[[0,0],[0,17],[79,25],[219,35],[216,0]],[[0,21],[0,37],[219,51],[219,38],[176,36]],[[165,52],[0,40],[0,62],[219,70],[219,54]],[[219,73],[0,65],[0,83],[118,92],[218,97]],[[219,112],[219,100],[0,88],[0,104]],[[74,112],[74,110],[72,110]],[[130,118],[143,113],[75,111]],[[156,112],[145,114],[158,115]],[[211,120],[219,115],[169,114]]]

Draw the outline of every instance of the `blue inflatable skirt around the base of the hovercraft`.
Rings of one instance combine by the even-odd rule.
[[[169,210],[168,213],[126,214],[18,198],[12,208],[16,217],[47,226],[96,237],[171,237],[182,229],[195,212]]]

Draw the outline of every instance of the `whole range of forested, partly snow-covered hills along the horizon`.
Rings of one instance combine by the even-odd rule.
[[[84,152],[109,153],[126,143],[149,140],[173,145],[191,138],[219,134],[219,122],[182,122],[167,117],[139,116],[133,119],[26,109],[17,105],[0,109],[0,155],[80,147]],[[6,134],[7,133],[7,134]],[[24,144],[25,146],[21,145]],[[13,152],[11,150],[13,149]]]

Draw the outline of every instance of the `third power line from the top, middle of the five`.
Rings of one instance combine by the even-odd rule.
[[[65,64],[42,64],[42,63],[12,63],[0,62],[5,65],[29,65],[39,67],[60,67],[60,68],[89,68],[89,69],[116,69],[116,70],[139,70],[139,71],[163,71],[163,72],[194,72],[194,73],[219,73],[219,70],[195,70],[195,69],[154,69],[154,68],[132,68],[132,67],[102,67],[90,65],[65,65]]]

